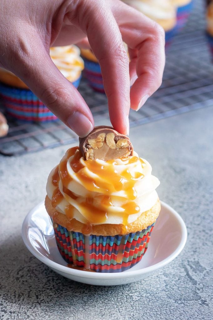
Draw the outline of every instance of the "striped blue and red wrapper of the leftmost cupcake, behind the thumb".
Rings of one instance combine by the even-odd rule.
[[[80,78],[72,84],[77,88]],[[57,117],[27,89],[0,83],[0,99],[8,114],[23,122],[49,122]]]

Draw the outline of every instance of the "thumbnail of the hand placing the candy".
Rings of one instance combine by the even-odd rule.
[[[72,116],[69,116],[67,124],[80,138],[86,137],[93,129],[89,119],[79,111],[75,111]]]

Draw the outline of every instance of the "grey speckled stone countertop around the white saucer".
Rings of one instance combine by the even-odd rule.
[[[0,319],[212,319],[212,127],[209,107],[131,129],[135,150],[161,181],[160,198],[184,219],[188,240],[169,265],[121,286],[92,286],[59,276],[22,241],[24,217],[44,199],[50,169],[68,147],[1,156]]]

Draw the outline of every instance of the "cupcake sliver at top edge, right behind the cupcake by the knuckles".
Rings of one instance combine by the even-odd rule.
[[[170,0],[177,8],[177,31],[180,31],[186,24],[192,10],[192,0]]]

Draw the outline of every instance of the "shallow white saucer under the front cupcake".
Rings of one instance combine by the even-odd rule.
[[[66,278],[95,285],[118,285],[141,280],[176,258],[184,248],[186,225],[179,214],[161,202],[161,212],[153,229],[147,252],[133,268],[118,273],[97,273],[66,267],[54,236],[44,202],[31,210],[22,225],[22,238],[29,251],[49,268]]]

